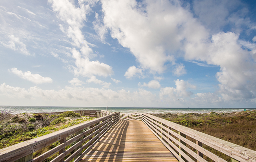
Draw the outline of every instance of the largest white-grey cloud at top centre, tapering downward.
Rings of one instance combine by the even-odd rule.
[[[141,67],[162,73],[182,41],[207,35],[179,1],[102,0],[104,24],[112,38],[129,48]]]

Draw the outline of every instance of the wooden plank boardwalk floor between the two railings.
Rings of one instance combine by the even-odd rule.
[[[80,162],[178,162],[139,120],[120,120]]]

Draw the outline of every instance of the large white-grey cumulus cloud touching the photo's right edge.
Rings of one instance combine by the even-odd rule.
[[[253,48],[255,44],[238,41],[238,37],[233,32],[220,32],[212,35],[211,42],[186,45],[185,58],[220,67],[216,78],[220,82],[219,92],[225,100],[253,98],[256,91],[256,72],[252,70],[256,69],[254,50],[243,48]]]

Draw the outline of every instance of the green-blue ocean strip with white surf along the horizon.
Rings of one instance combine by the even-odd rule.
[[[72,110],[106,110],[106,107],[65,107],[65,106],[0,106],[0,111],[9,111],[10,114],[60,112]],[[148,114],[158,113],[207,113],[207,112],[239,112],[256,110],[256,108],[149,108],[149,107],[108,107],[110,112],[132,113],[143,112]]]

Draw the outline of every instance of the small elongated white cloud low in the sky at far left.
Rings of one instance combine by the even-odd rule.
[[[9,71],[12,72],[13,74],[16,74],[20,78],[33,82],[35,84],[52,83],[52,78],[43,77],[43,76],[40,76],[39,74],[32,74],[30,71],[22,72],[17,68],[11,68]]]

